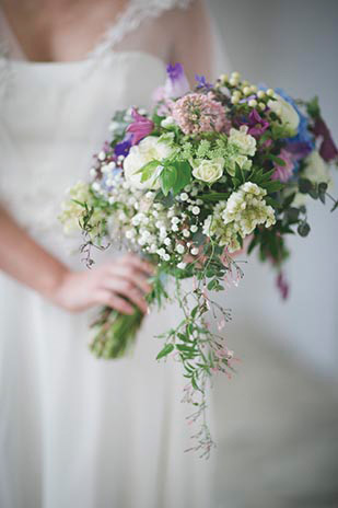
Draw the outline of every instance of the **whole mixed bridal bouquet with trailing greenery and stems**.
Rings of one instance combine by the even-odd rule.
[[[161,335],[158,359],[182,362],[184,401],[195,406],[189,422],[202,417],[193,448],[208,455],[207,382],[214,372],[230,374],[235,361],[221,335],[230,312],[211,292],[241,279],[234,254],[245,245],[271,263],[287,296],[285,236],[310,232],[307,196],[337,208],[328,163],[337,163],[338,151],[317,99],[294,101],[280,89],[243,81],[238,72],[214,84],[196,79],[190,90],[182,66],[168,66],[151,112],[115,114],[91,180],[69,190],[61,221],[68,231],[83,231],[89,266],[92,245],[116,242],[156,265],[150,307],[175,299],[182,309],[176,327]],[[133,315],[102,309],[93,323],[93,354],[126,355],[142,318],[139,309]]]

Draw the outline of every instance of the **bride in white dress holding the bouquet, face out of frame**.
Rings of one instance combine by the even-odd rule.
[[[91,309],[147,312],[152,272],[107,253],[86,270],[57,217],[114,112],[147,106],[180,61],[211,77],[201,1],[0,2],[0,506],[210,508],[212,462],[184,453],[180,371],[154,358],[176,308],[133,355],[88,350]]]

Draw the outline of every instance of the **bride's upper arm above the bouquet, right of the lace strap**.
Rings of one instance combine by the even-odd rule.
[[[183,64],[190,84],[195,82],[195,74],[211,80],[214,48],[210,18],[202,0],[194,0],[187,9],[177,12],[174,33],[171,61]]]

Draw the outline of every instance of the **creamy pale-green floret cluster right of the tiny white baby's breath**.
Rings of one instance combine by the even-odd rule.
[[[269,228],[276,222],[273,208],[264,199],[266,194],[252,182],[241,185],[228,201],[215,205],[213,213],[205,221],[203,233],[213,236],[220,245],[226,245],[230,252],[238,250],[238,236],[244,239],[258,224]]]

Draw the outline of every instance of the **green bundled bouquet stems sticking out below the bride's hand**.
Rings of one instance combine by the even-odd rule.
[[[97,358],[121,358],[131,350],[141,326],[143,313],[136,308],[133,314],[123,314],[104,307],[91,327],[94,337],[90,349]]]

